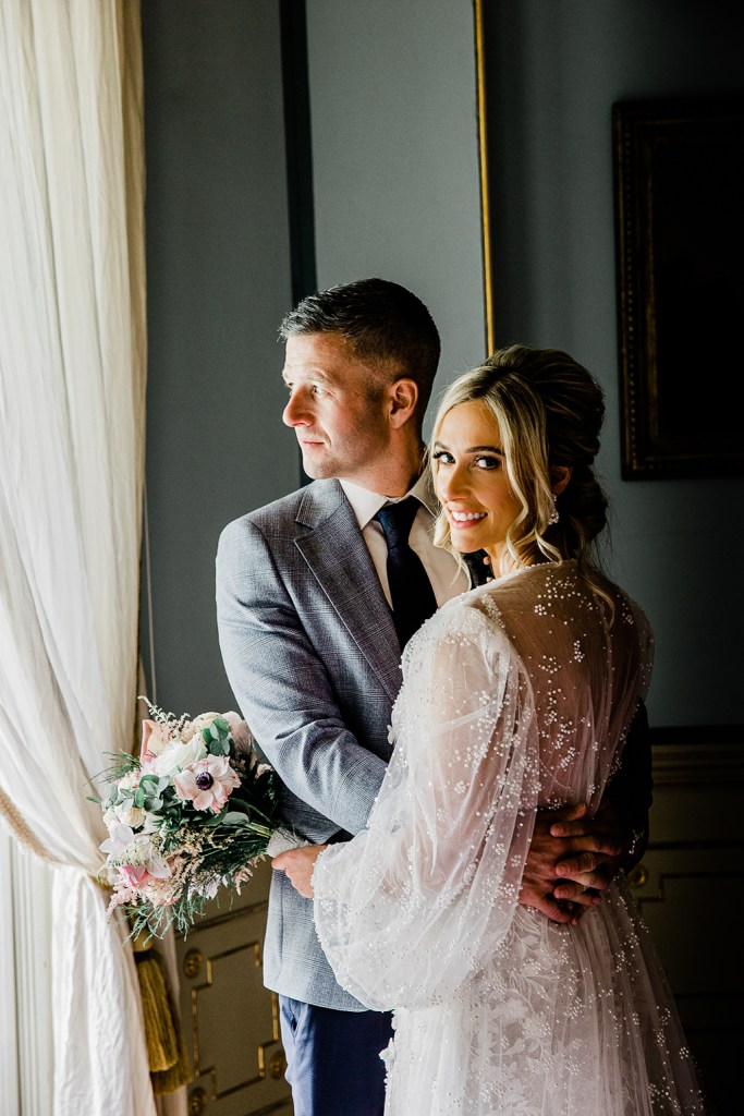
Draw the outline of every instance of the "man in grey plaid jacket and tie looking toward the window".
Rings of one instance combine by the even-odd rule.
[[[309,296],[280,334],[283,421],[313,483],[223,530],[218,626],[240,709],[282,780],[287,822],[312,843],[338,841],[367,820],[390,756],[402,681],[386,537],[376,519],[388,500],[413,493],[419,501],[409,542],[436,605],[467,588],[453,558],[432,545],[436,501],[422,472],[439,337],[423,302],[381,279]],[[582,910],[570,901],[599,901],[597,889],[628,856],[629,835],[637,845],[645,834],[644,725],[626,757],[605,824],[595,819],[590,833],[576,808],[551,835],[557,815],[539,818],[520,902],[569,922]],[[622,826],[613,824],[618,815]],[[632,852],[637,858],[640,848]],[[279,994],[294,1116],[381,1116],[379,1051],[390,1017],[337,984],[312,903],[281,872],[271,884],[263,968]]]

